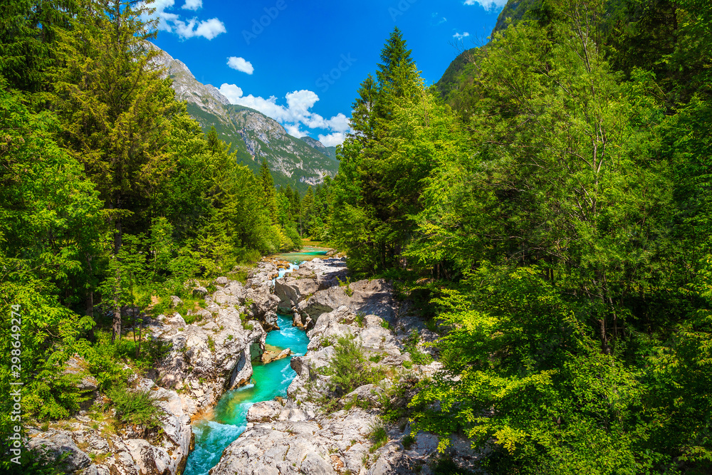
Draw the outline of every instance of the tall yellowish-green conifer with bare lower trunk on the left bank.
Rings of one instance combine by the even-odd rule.
[[[136,0],[88,0],[73,30],[60,35],[63,66],[53,74],[63,141],[105,202],[114,256],[125,225],[147,218],[152,192],[167,174],[170,118],[179,110],[153,66],[159,52],[146,41],[155,34],[141,20],[146,11]],[[120,338],[118,305],[114,314],[112,338]]]

